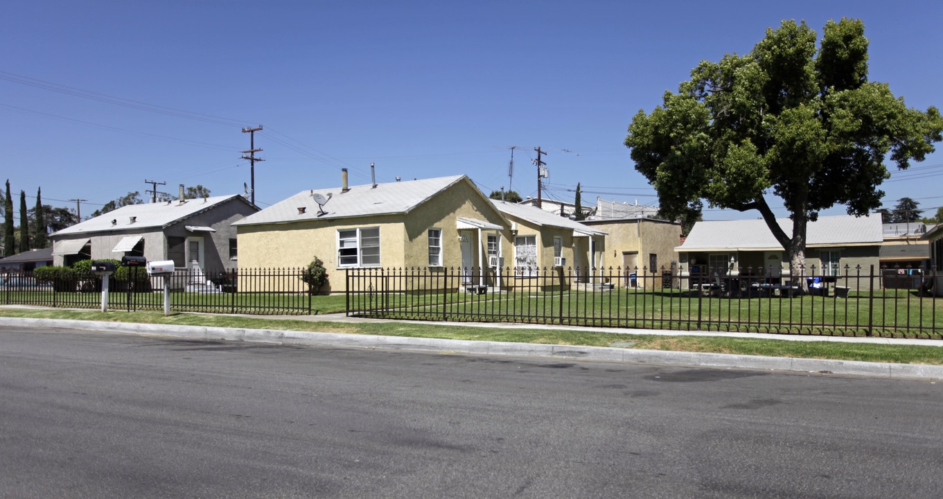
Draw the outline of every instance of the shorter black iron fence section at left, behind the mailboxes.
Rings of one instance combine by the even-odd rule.
[[[108,308],[162,310],[166,283],[175,311],[309,314],[311,296],[302,280],[304,271],[176,271],[164,277],[131,268],[122,280],[114,274],[108,277]],[[0,301],[8,305],[100,308],[102,278],[95,274],[63,274],[43,281],[32,273],[0,275]]]

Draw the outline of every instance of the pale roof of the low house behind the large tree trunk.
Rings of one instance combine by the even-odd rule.
[[[792,221],[776,219],[776,223],[792,235]],[[853,217],[839,215],[819,217],[805,228],[806,246],[841,244],[881,244],[884,241],[880,216]],[[685,243],[678,251],[707,250],[782,250],[762,219],[701,221],[694,224]]]

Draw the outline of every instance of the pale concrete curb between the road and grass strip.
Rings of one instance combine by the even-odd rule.
[[[413,350],[439,352],[443,354],[563,358],[573,360],[631,362],[637,364],[784,371],[792,373],[852,374],[887,378],[943,379],[943,366],[925,364],[895,364],[888,362],[861,362],[816,358],[779,358],[696,352],[667,352],[601,346],[438,340],[432,338],[316,333],[275,329],[241,329],[203,325],[111,323],[69,319],[0,317],[0,324],[23,327],[71,328],[108,333],[132,333],[143,336],[189,338],[207,341],[259,341],[283,344]]]

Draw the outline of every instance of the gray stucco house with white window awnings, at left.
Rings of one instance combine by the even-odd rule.
[[[127,255],[174,260],[179,270],[232,270],[238,258],[232,224],[256,211],[237,194],[125,206],[51,234],[53,263]]]

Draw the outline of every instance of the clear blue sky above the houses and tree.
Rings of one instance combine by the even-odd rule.
[[[622,145],[632,116],[691,68],[746,53],[769,26],[862,19],[872,81],[943,107],[943,4],[793,2],[8,2],[0,30],[3,179],[35,205],[87,216],[143,181],[249,182],[243,126],[263,125],[256,202],[351,183],[467,174],[488,193],[655,204]],[[515,150],[513,184],[510,146]],[[937,144],[943,147],[943,144]],[[3,181],[0,179],[0,182]],[[943,152],[893,171],[902,196],[943,205]],[[828,214],[840,214],[833,208]],[[785,216],[784,209],[777,214]],[[707,211],[705,218],[755,218]]]

